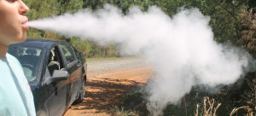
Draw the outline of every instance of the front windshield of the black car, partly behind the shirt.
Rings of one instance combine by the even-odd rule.
[[[10,45],[9,54],[14,55],[21,64],[29,84],[37,84],[43,48],[28,45]]]

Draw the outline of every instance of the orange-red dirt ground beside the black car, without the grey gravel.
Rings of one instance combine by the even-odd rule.
[[[65,116],[110,116],[109,109],[153,73],[151,67],[143,67],[87,78],[84,102],[71,106]]]

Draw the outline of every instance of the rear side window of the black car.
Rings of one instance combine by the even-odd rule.
[[[73,61],[76,61],[75,54],[73,52],[73,49],[69,45],[61,45],[61,48],[64,52],[64,55],[66,57],[67,65]]]

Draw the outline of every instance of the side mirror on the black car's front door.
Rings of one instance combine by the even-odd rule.
[[[53,81],[66,80],[69,77],[69,73],[67,71],[55,70],[52,79]]]

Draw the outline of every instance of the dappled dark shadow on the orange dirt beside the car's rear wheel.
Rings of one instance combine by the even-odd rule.
[[[70,109],[79,110],[80,114],[110,113],[111,108],[117,106],[119,101],[124,99],[125,94],[139,84],[125,79],[90,78],[87,80],[84,102],[75,104]]]

